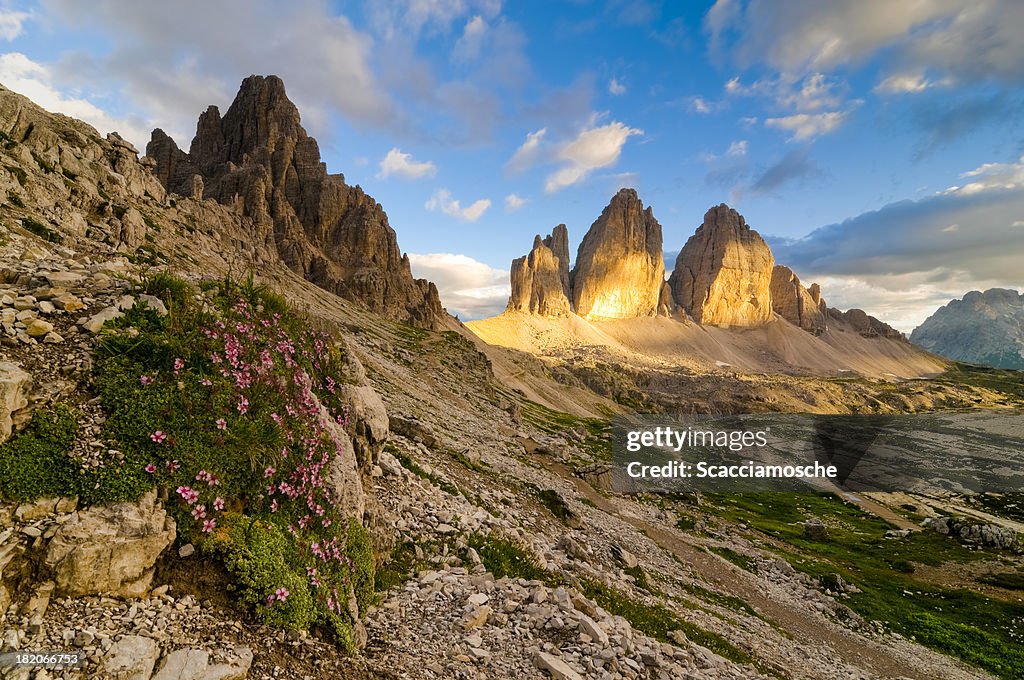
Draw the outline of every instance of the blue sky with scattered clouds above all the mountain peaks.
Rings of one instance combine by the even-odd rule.
[[[1024,288],[1021,27],[1017,0],[0,0],[0,83],[143,151],[281,76],[464,320],[633,186],[670,267],[727,203],[830,306],[909,332]]]

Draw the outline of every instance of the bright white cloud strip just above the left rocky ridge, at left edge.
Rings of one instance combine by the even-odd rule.
[[[140,118],[118,118],[88,99],[70,96],[53,83],[50,67],[20,52],[0,54],[0,82],[46,109],[83,120],[100,133],[118,132],[139,150],[145,147],[152,125]]]

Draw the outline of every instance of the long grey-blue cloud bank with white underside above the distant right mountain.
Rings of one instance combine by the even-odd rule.
[[[1024,159],[986,164],[963,178],[969,181],[961,186],[803,239],[769,239],[775,259],[821,283],[830,305],[885,312],[883,321],[904,331],[966,291],[1020,288],[1024,229],[1014,224],[1024,214]]]

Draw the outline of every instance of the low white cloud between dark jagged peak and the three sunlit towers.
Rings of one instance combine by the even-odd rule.
[[[512,292],[507,271],[453,253],[410,253],[409,261],[413,274],[432,281],[441,303],[460,318],[484,318],[505,310]]]

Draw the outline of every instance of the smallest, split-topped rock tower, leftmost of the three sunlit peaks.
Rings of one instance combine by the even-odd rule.
[[[508,309],[542,316],[567,316],[569,305],[568,231],[559,224],[551,236],[534,239],[524,257],[512,260]]]

